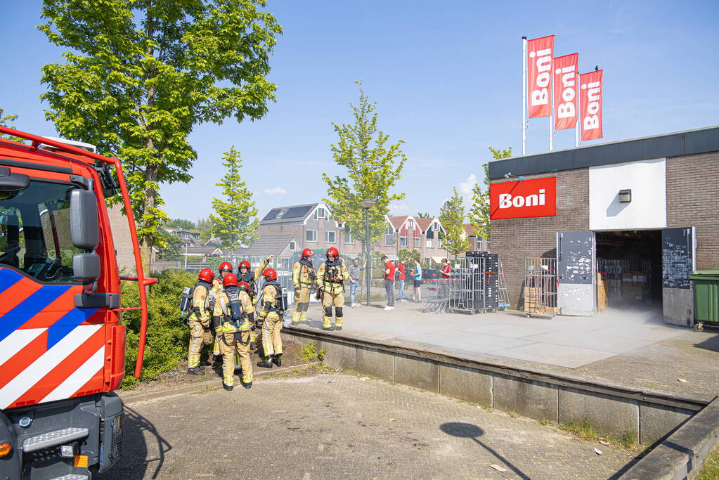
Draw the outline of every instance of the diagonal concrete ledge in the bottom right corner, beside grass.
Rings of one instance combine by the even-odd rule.
[[[619,480],[694,478],[704,458],[719,445],[719,397],[665,438]]]

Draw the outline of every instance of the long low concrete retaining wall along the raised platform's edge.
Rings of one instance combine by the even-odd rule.
[[[661,442],[711,399],[661,392],[603,379],[523,367],[484,356],[464,356],[432,346],[387,341],[313,328],[283,328],[283,338],[326,351],[339,369],[476,402],[535,420],[584,423],[600,435]]]

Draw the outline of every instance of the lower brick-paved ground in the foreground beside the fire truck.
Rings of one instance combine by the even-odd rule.
[[[633,456],[344,374],[262,379],[127,413],[122,463],[99,479],[606,479]]]

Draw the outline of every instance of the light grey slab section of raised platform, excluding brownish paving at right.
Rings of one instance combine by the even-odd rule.
[[[343,332],[383,341],[420,343],[461,354],[490,354],[569,369],[686,333],[661,314],[605,310],[596,317],[525,318],[513,313],[421,313],[417,303],[345,308]],[[321,328],[311,308],[308,326]]]

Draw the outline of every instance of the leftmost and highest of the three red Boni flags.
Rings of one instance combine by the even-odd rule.
[[[530,119],[551,116],[551,59],[554,35],[527,41],[527,98]]]

